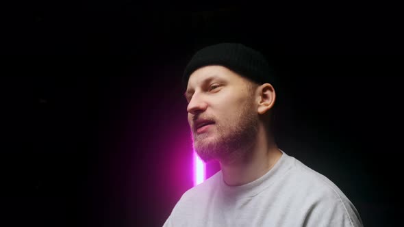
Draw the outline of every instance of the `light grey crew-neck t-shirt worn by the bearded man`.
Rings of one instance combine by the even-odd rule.
[[[363,226],[351,201],[327,177],[282,151],[264,176],[229,186],[219,171],[186,191],[164,227]]]

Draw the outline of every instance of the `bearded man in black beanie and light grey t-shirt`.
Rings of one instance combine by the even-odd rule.
[[[164,226],[363,226],[336,185],[277,147],[270,80],[264,56],[243,44],[192,57],[184,83],[193,146],[221,170],[186,191]]]

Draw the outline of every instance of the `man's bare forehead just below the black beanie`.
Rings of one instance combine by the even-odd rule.
[[[241,82],[243,78],[224,66],[204,66],[192,72],[188,80],[187,90],[213,80]]]

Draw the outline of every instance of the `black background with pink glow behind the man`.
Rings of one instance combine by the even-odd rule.
[[[273,64],[280,148],[336,183],[365,226],[399,226],[394,5],[11,7],[2,14],[1,226],[162,226],[192,187],[179,79],[192,53],[216,42],[244,42]]]

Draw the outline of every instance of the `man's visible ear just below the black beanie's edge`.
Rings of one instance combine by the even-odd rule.
[[[270,83],[264,83],[256,91],[258,114],[265,114],[275,104],[275,89]]]

